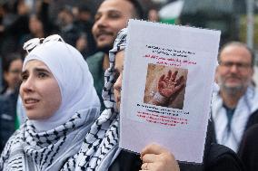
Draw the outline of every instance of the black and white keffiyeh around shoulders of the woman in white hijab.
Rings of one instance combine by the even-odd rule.
[[[8,140],[0,158],[0,170],[60,170],[80,150],[98,109],[78,111],[61,126],[37,132],[26,120]]]

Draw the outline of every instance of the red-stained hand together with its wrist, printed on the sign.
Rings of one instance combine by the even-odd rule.
[[[178,71],[168,71],[167,75],[162,75],[157,83],[157,92],[154,94],[150,104],[167,106],[171,98],[184,87],[184,76],[176,78]]]

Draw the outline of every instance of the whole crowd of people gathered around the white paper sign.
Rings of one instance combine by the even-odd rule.
[[[246,44],[220,49],[203,164],[177,161],[158,144],[137,155],[118,142],[126,25],[145,19],[141,3],[104,0],[94,16],[64,5],[53,22],[51,1],[38,2],[34,13],[23,0],[16,14],[1,6],[0,170],[258,170],[255,57]]]

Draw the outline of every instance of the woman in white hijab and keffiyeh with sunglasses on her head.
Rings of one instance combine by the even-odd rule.
[[[70,161],[75,161],[99,114],[100,102],[83,56],[60,36],[41,42],[25,43],[28,55],[20,95],[28,119],[6,143],[0,170],[74,167]]]

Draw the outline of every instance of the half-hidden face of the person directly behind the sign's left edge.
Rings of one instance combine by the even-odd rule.
[[[114,63],[114,76],[116,79],[116,81],[114,82],[114,100],[116,102],[118,110],[120,110],[120,103],[121,103],[123,70],[124,70],[124,51],[120,51],[115,54],[115,63]]]

